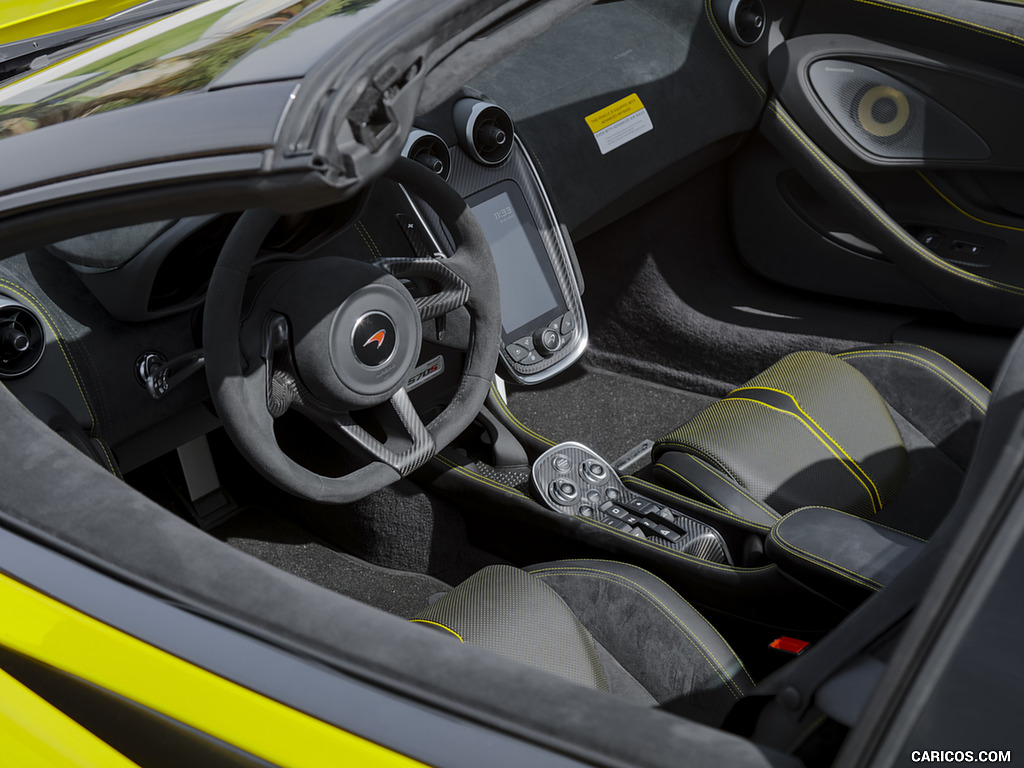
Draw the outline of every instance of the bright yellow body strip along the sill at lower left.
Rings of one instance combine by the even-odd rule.
[[[5,575],[0,575],[0,645],[273,765],[422,765],[155,648]]]

